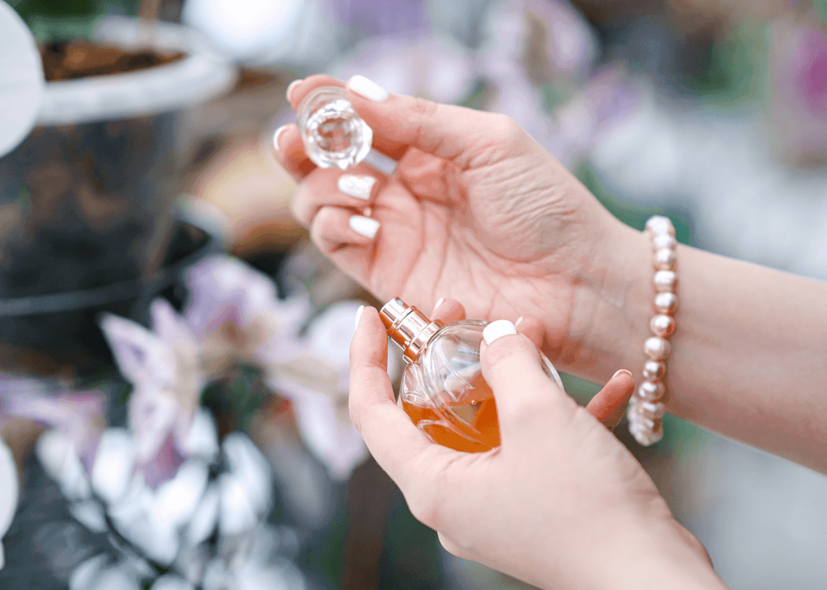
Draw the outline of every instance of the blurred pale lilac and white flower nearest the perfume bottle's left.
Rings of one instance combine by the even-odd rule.
[[[309,297],[280,300],[275,284],[229,256],[215,256],[189,271],[184,310],[202,342],[210,376],[234,363],[264,372],[267,386],[294,402],[304,443],[335,478],[346,478],[367,456],[347,412],[353,317],[359,302],[340,302],[313,318]]]

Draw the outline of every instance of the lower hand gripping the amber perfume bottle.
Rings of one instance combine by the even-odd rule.
[[[394,403],[386,354],[385,327],[366,307],[351,344],[351,417],[447,550],[541,588],[724,588],[640,464],[543,373],[528,337],[483,347],[502,440],[485,453],[419,431]],[[598,398],[628,400],[632,388],[619,372]]]

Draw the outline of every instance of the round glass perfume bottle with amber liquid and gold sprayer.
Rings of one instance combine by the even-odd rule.
[[[476,453],[500,446],[494,394],[480,369],[482,330],[488,323],[430,321],[396,297],[379,312],[390,339],[408,363],[399,387],[402,408],[431,439]],[[562,389],[560,375],[541,353],[546,374]]]

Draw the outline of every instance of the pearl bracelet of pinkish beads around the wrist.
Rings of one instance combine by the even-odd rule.
[[[656,315],[649,320],[652,335],[643,344],[643,352],[648,356],[643,365],[644,381],[632,396],[626,416],[634,439],[640,445],[649,446],[663,438],[662,419],[666,413],[666,406],[661,401],[666,393],[663,378],[667,372],[667,357],[672,350],[667,339],[675,333],[673,316],[677,310],[677,240],[672,221],[664,216],[650,217],[644,233],[652,238]]]

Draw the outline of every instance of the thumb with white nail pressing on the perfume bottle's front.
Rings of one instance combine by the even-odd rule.
[[[492,321],[483,337],[480,364],[494,392],[503,440],[537,424],[547,430],[571,419],[576,403],[543,371],[537,346],[528,337],[517,334],[507,320]]]

